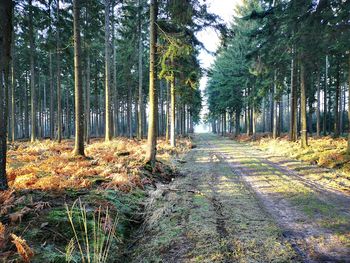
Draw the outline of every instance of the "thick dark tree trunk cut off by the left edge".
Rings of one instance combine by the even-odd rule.
[[[8,188],[6,177],[8,68],[11,54],[12,1],[0,1],[0,191]]]

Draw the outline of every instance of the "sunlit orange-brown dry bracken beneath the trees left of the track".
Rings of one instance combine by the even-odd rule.
[[[190,148],[190,140],[181,139],[172,149],[159,141],[160,158],[168,158]],[[62,143],[38,141],[16,142],[8,151],[8,181],[13,189],[62,190],[91,188],[98,181],[102,187],[130,191],[143,187],[141,168],[146,141],[115,139],[111,142],[93,140],[86,147],[87,158],[72,156],[73,141]]]

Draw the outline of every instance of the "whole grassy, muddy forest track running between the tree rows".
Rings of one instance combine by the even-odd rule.
[[[151,194],[134,262],[350,262],[349,196],[249,144],[194,143]]]

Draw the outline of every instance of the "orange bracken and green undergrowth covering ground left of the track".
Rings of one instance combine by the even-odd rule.
[[[172,149],[160,140],[158,159],[162,163],[149,171],[143,163],[145,140],[115,139],[105,143],[94,139],[86,147],[87,158],[71,155],[71,140],[62,144],[50,141],[11,144],[7,163],[10,190],[0,193],[0,222],[5,229],[4,238],[0,233],[0,258],[5,262],[21,258],[11,242],[10,234],[14,233],[34,252],[33,262],[66,262],[67,259],[79,262],[82,257],[77,237],[86,240],[88,231],[93,242],[90,234],[99,221],[99,211],[103,214],[100,220],[106,221],[108,208],[109,218],[118,218],[117,238],[110,249],[117,261],[125,262],[128,238],[143,220],[143,202],[148,189],[156,182],[169,182],[176,175],[169,166],[171,159],[188,151],[191,141],[181,139],[178,145]],[[78,199],[86,217],[73,213],[70,219],[65,205],[71,209]],[[78,227],[79,218],[82,225],[85,220],[87,230]],[[92,260],[95,253],[91,251],[93,248],[90,262],[95,262]],[[83,254],[89,254],[85,252]],[[66,258],[67,255],[71,256]],[[114,259],[102,261],[115,262]]]

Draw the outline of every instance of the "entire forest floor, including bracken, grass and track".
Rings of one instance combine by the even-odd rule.
[[[300,151],[286,140],[198,134],[172,149],[160,140],[154,170],[143,163],[145,141],[93,140],[88,158],[71,156],[72,141],[12,144],[0,262],[17,262],[18,252],[79,262],[67,216],[76,200],[85,207],[76,226],[85,212],[93,226],[101,207],[110,211],[103,235],[118,220],[108,262],[350,262],[345,142],[312,143]]]

